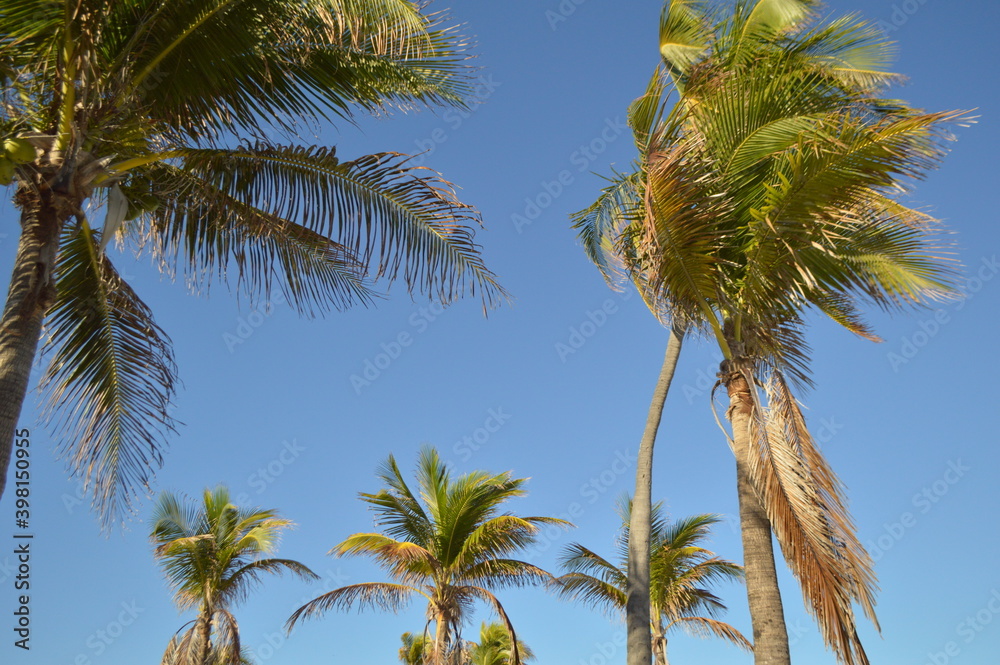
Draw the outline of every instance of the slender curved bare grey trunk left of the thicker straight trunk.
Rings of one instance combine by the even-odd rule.
[[[628,665],[649,665],[653,660],[652,632],[649,628],[649,520],[652,512],[653,445],[663,415],[663,403],[667,399],[670,382],[677,368],[683,338],[681,331],[670,332],[636,459],[635,495],[632,497],[632,517],[629,521],[628,582],[625,591]]]

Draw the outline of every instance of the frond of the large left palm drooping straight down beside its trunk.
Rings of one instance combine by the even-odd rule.
[[[176,367],[152,312],[97,250],[85,220],[67,230],[48,318],[48,419],[103,520],[147,490],[162,462]]]

